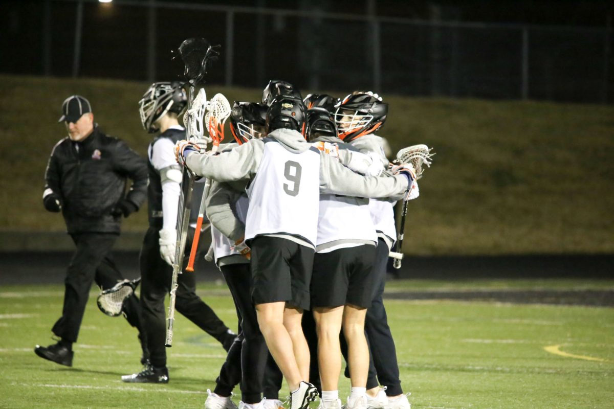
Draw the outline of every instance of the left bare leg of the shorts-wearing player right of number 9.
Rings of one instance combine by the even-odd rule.
[[[317,362],[320,367],[322,391],[335,391],[338,389],[341,372],[339,334],[343,319],[343,306],[314,308],[313,316],[316,319]]]

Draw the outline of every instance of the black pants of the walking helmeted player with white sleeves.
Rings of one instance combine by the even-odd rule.
[[[184,265],[187,264],[194,230],[189,229],[185,244]],[[164,300],[171,289],[173,267],[160,257],[158,229],[149,227],[141,247],[141,306],[147,346],[153,366],[166,365],[166,312]],[[235,338],[215,312],[196,295],[195,273],[184,272],[177,279],[175,308],[222,345],[230,346]]]

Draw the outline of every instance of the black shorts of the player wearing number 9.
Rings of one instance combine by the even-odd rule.
[[[270,236],[255,237],[249,247],[254,304],[286,301],[309,310],[313,248]]]

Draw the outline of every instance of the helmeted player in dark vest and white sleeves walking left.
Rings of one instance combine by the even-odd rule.
[[[181,167],[174,160],[173,147],[185,138],[177,117],[187,102],[179,82],[153,83],[139,101],[143,128],[150,134],[160,132],[149,144],[149,229],[140,256],[141,305],[147,331],[150,362],[139,373],[125,375],[124,382],[168,383],[166,368],[166,314],[164,300],[171,286],[172,264],[177,240],[176,222]],[[197,196],[197,195],[196,195]],[[188,237],[192,237],[188,235]],[[186,246],[187,249],[190,245]],[[189,251],[189,250],[188,250]],[[196,295],[193,273],[179,275],[176,308],[228,350],[236,338],[216,313]]]

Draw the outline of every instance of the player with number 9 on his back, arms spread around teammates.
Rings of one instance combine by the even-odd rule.
[[[404,197],[413,175],[362,177],[306,143],[305,104],[274,99],[266,113],[267,137],[219,155],[199,154],[180,141],[177,160],[218,182],[251,180],[247,243],[251,247],[252,299],[266,345],[290,388],[290,409],[305,409],[317,390],[309,377],[309,351],[301,329],[317,236],[320,193]]]

